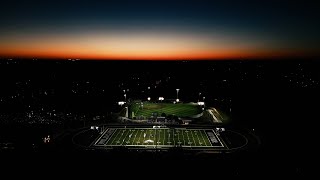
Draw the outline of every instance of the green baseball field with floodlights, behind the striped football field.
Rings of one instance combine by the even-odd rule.
[[[150,103],[143,102],[141,103],[133,103],[131,105],[131,112],[133,112],[133,116],[144,116],[151,117],[153,114],[157,114],[157,116],[165,113],[168,115],[176,115],[178,117],[190,117],[196,114],[201,113],[201,108],[196,104],[173,104],[173,103]]]

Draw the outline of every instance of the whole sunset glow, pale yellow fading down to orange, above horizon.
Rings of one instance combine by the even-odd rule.
[[[5,43],[4,43],[5,42]],[[299,56],[259,41],[192,34],[76,34],[11,38],[0,43],[1,57],[101,60],[214,60]],[[245,43],[243,43],[245,42]],[[257,43],[258,42],[258,43]]]

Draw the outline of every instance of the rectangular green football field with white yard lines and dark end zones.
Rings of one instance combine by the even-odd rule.
[[[224,147],[212,129],[182,128],[109,128],[95,141],[95,146],[134,147]]]

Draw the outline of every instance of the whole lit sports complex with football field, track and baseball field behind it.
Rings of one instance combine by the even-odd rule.
[[[124,105],[124,106],[123,106]],[[89,149],[231,152],[245,147],[250,137],[225,129],[223,116],[204,102],[133,100],[121,104],[117,124],[92,126],[74,143]],[[199,119],[209,119],[199,124]],[[91,137],[88,139],[88,137]],[[87,138],[87,139],[86,139]],[[86,140],[83,140],[86,139]],[[82,142],[87,142],[83,145]]]

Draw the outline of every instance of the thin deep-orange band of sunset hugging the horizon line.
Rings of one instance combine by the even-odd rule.
[[[254,59],[254,58],[276,58],[276,57],[291,57],[287,54],[271,55],[267,53],[247,53],[237,51],[220,51],[220,52],[194,52],[188,53],[122,53],[122,54],[99,54],[99,53],[86,53],[79,51],[73,52],[59,52],[59,51],[41,51],[40,53],[32,51],[12,51],[8,54],[2,54],[2,57],[15,57],[15,58],[44,58],[44,59],[96,59],[96,60],[215,60],[215,59]]]

